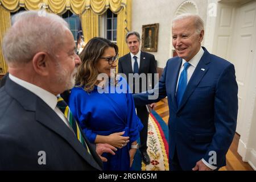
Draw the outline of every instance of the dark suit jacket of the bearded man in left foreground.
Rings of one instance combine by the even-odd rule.
[[[43,100],[11,81],[0,89],[0,170],[101,170],[72,131]],[[39,151],[46,165],[38,164]]]

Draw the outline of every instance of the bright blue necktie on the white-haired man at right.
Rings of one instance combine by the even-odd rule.
[[[180,105],[181,99],[183,97],[183,94],[185,92],[185,89],[187,87],[187,69],[191,64],[189,64],[188,62],[186,62],[184,64],[184,69],[183,71],[180,73],[180,79],[179,79],[179,84],[177,87],[177,93],[176,93],[176,98],[177,98],[177,105]]]

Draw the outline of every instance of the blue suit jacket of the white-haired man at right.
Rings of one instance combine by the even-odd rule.
[[[182,59],[167,61],[159,80],[159,98],[148,100],[148,94],[134,94],[135,105],[150,104],[168,97],[170,118],[169,158],[175,149],[181,168],[191,170],[202,158],[206,162],[216,152],[216,164],[225,166],[225,155],[236,131],[238,86],[234,65],[204,49],[195,72],[178,107],[176,85]],[[212,160],[214,162],[214,160]]]

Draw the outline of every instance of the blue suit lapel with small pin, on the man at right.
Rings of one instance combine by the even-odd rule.
[[[209,69],[207,65],[208,63],[210,63],[210,54],[206,49],[204,49],[204,55],[201,57],[199,63],[196,66],[195,71],[193,72],[193,75],[191,76],[188,82],[187,88],[185,89],[183,98],[181,100],[179,109],[177,111],[179,111],[181,107],[185,105],[185,102],[187,102],[188,98],[191,96],[196,86],[204,77],[205,73],[207,73]]]

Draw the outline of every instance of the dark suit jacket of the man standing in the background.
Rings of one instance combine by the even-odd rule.
[[[120,57],[118,60],[118,73],[124,73],[127,77],[127,82],[130,85],[130,88],[133,88],[135,83],[135,79],[129,79],[129,73],[133,73],[133,67],[131,67],[131,55],[127,53],[127,55]],[[155,56],[151,53],[141,51],[140,63],[139,63],[139,74],[141,73],[152,73],[152,77],[150,78],[150,85],[151,88],[154,88],[155,80],[154,80],[154,73],[156,73],[156,60]],[[153,78],[153,79],[152,79]],[[152,81],[152,82],[151,82]],[[139,91],[144,92],[148,88],[148,79],[146,77],[146,89],[142,88],[142,80],[139,81]]]

